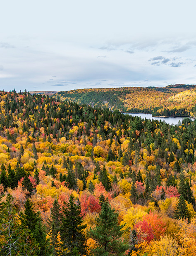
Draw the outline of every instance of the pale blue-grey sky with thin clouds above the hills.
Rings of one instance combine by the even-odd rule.
[[[0,90],[196,84],[194,0],[1,2]]]

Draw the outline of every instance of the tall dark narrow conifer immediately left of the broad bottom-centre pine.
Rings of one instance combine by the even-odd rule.
[[[61,239],[65,249],[64,255],[73,255],[77,250],[79,255],[86,255],[86,237],[81,217],[81,206],[74,203],[74,196],[71,194],[66,208],[63,207]]]

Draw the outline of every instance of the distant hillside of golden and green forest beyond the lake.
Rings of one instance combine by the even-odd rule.
[[[93,107],[118,109],[125,113],[152,113],[153,116],[195,116],[196,86],[124,87],[60,91],[62,100]]]

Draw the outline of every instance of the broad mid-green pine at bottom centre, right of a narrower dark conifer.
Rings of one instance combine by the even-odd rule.
[[[122,226],[118,224],[118,213],[111,209],[108,199],[102,203],[96,227],[90,228],[88,236],[96,241],[94,255],[122,255],[127,245],[122,241]]]

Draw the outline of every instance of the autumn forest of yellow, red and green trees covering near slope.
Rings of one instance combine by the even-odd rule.
[[[195,197],[196,120],[0,91],[0,255],[194,256]]]

